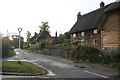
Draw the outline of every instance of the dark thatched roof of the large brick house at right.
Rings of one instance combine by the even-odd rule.
[[[104,19],[105,11],[116,9],[118,8],[117,5],[120,6],[120,2],[103,6],[95,11],[79,16],[78,20],[71,28],[70,33],[72,34],[85,30],[97,29]]]

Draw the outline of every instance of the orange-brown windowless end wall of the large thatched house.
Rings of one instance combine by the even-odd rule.
[[[120,12],[112,12],[107,15],[104,25],[102,26],[103,30],[101,32],[102,42],[101,47],[118,47],[118,14]],[[119,35],[120,36],[120,35]]]

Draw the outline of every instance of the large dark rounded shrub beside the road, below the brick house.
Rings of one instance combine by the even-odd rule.
[[[90,46],[78,46],[72,51],[71,58],[88,62],[100,62],[101,51]]]

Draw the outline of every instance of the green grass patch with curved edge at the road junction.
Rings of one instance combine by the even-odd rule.
[[[44,75],[48,72],[40,66],[25,61],[3,61],[2,72],[7,73],[28,73]]]

